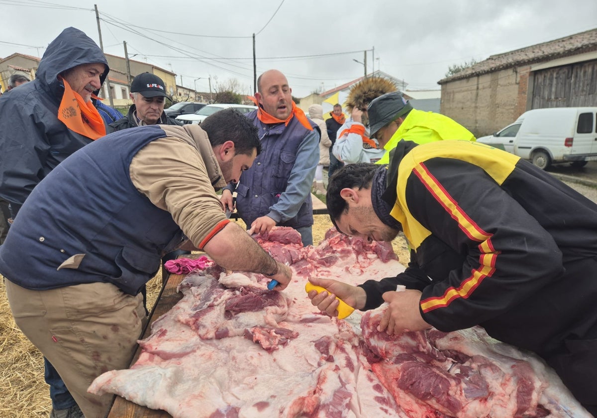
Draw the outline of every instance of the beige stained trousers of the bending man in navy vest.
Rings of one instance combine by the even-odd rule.
[[[54,365],[86,418],[103,418],[113,395],[87,393],[100,374],[128,368],[146,323],[143,296],[109,283],[28,290],[5,279],[21,331]]]

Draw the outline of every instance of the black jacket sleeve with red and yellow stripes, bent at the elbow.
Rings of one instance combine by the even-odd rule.
[[[562,276],[553,236],[482,168],[447,158],[421,167],[408,177],[406,200],[431,233],[430,244],[426,239],[416,248],[418,265],[432,280],[421,296],[425,321],[442,331],[471,327]],[[426,257],[442,251],[451,251],[460,268],[442,270]]]

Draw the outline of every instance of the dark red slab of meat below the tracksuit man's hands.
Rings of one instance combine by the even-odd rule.
[[[407,414],[417,416],[430,407],[440,413],[430,416],[568,416],[545,393],[558,378],[533,356],[491,339],[479,327],[388,336],[377,331],[382,313],[380,308],[362,315],[362,337],[374,373]],[[576,404],[567,390],[560,396],[562,405]]]

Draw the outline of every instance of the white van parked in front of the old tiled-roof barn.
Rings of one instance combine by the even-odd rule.
[[[570,162],[583,167],[597,160],[597,107],[533,109],[497,133],[477,139],[539,168]]]

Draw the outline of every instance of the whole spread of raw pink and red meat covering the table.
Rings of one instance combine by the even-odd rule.
[[[404,271],[388,244],[335,229],[318,247],[286,228],[256,239],[291,266],[287,289],[219,266],[187,275],[135,364],[89,391],[181,418],[589,416],[540,361],[481,329],[390,337],[376,331],[382,308],[338,320],[312,306],[309,277],[359,284]]]

